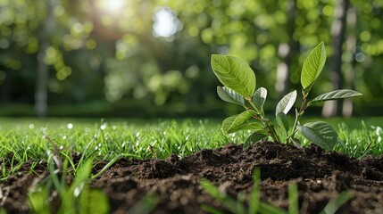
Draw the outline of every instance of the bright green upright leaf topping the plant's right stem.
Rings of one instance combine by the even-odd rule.
[[[312,50],[312,53],[304,61],[302,68],[301,84],[307,94],[312,89],[315,80],[320,76],[325,62],[326,50],[323,42],[321,42]]]

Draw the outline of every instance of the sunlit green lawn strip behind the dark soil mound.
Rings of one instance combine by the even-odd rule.
[[[329,120],[337,126],[341,142],[336,151],[353,157],[382,154],[379,119],[372,123],[359,120],[359,128],[349,128],[356,127],[358,120],[350,121]],[[224,135],[219,119],[0,119],[0,157],[12,157],[7,160],[12,172],[25,161],[46,161],[46,154],[54,151],[64,155],[77,152],[84,159],[106,161],[116,157],[164,159],[171,153],[185,156],[230,142],[240,144],[248,135]],[[300,138],[304,144],[309,143],[303,136]]]

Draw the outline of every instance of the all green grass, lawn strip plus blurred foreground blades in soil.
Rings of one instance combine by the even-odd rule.
[[[366,122],[364,122],[364,120]],[[337,152],[353,157],[365,155],[378,156],[383,153],[383,130],[378,119],[328,120],[337,128],[339,143]],[[21,169],[26,161],[31,161],[30,173],[38,163],[47,163],[50,176],[44,184],[29,193],[32,210],[48,213],[45,206],[49,190],[54,188],[61,197],[62,210],[76,205],[75,191],[81,187],[79,199],[99,201],[104,194],[89,189],[90,169],[95,161],[114,161],[125,158],[164,159],[176,153],[185,156],[202,149],[217,148],[228,143],[242,144],[250,133],[238,132],[229,136],[221,132],[221,119],[0,119],[0,182]],[[298,136],[308,144],[303,136]],[[80,161],[75,163],[72,154],[79,154]],[[63,175],[71,173],[74,177],[71,185],[65,185],[65,176],[58,177],[57,169]],[[294,192],[291,192],[294,193]],[[69,197],[68,195],[71,195]],[[81,198],[81,195],[87,195]],[[147,196],[137,207],[154,207],[155,195]],[[153,198],[154,199],[151,199]],[[258,197],[254,192],[253,197]],[[89,199],[90,198],[90,199]],[[290,200],[296,196],[289,197]],[[149,200],[150,199],[150,200]],[[66,201],[65,201],[66,200]],[[241,201],[239,201],[241,202]],[[262,203],[262,202],[260,202]],[[149,206],[143,205],[149,204]],[[263,204],[263,203],[262,203]],[[239,206],[238,204],[236,206]],[[257,205],[258,206],[258,205]],[[263,204],[264,209],[271,209]],[[260,209],[262,209],[262,206]],[[79,208],[81,206],[78,205]],[[48,209],[48,210],[46,210]],[[86,209],[84,207],[84,209]],[[101,207],[100,209],[103,209]],[[243,208],[245,209],[245,208]],[[254,208],[249,208],[250,210]],[[273,208],[274,209],[274,208]],[[276,208],[275,208],[276,209]],[[0,213],[2,213],[0,209]],[[149,212],[150,210],[146,210]]]

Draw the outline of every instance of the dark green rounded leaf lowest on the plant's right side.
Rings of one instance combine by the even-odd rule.
[[[300,127],[302,134],[326,150],[332,150],[337,144],[337,132],[326,122],[310,122]]]

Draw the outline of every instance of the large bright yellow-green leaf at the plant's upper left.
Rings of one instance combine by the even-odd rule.
[[[255,74],[243,60],[228,55],[212,54],[212,71],[224,86],[250,99],[255,91]]]

